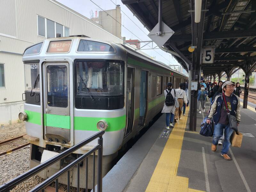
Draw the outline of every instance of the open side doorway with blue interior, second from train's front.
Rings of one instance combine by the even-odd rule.
[[[143,125],[146,116],[147,105],[147,71],[140,71],[140,119],[139,125]]]

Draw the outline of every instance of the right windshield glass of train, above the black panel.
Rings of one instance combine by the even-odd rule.
[[[77,61],[77,95],[123,95],[123,64],[108,61]]]

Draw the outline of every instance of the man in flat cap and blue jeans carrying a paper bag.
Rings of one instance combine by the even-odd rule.
[[[233,84],[231,81],[226,81],[222,84],[222,92],[224,94],[220,93],[212,101],[206,121],[207,123],[210,123],[211,119],[213,119],[215,124],[211,147],[211,150],[214,152],[217,150],[218,140],[222,136],[224,129],[225,139],[220,155],[223,156],[226,160],[231,160],[227,153],[230,147],[230,137],[233,133],[233,129],[231,129],[229,126],[228,114],[223,97],[226,99],[230,115],[236,117],[236,122],[238,125],[241,118],[240,100],[239,97],[233,93],[235,86],[236,84]]]

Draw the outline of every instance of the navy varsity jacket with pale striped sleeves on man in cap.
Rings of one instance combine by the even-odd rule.
[[[212,101],[212,104],[210,106],[207,119],[211,120],[213,118],[214,124],[218,124],[219,122],[222,102],[225,102],[225,101],[221,93],[215,97],[215,99]],[[229,111],[230,115],[236,116],[236,122],[240,123],[240,119],[241,119],[240,99],[234,93],[231,94],[230,104],[231,104],[231,110]]]

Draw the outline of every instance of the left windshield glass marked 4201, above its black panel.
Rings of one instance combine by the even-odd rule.
[[[28,63],[25,64],[25,90],[31,91],[33,88],[33,92],[40,92],[39,85],[39,64],[38,63]]]

